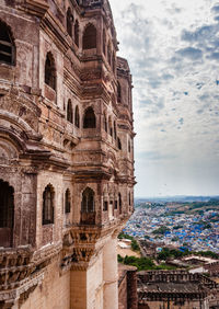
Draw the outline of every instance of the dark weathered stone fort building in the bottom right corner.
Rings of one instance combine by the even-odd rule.
[[[208,309],[217,284],[200,274],[186,271],[138,273],[139,309]]]

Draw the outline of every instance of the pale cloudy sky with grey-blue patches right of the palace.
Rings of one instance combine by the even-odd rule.
[[[219,195],[219,2],[110,2],[135,87],[136,196]]]

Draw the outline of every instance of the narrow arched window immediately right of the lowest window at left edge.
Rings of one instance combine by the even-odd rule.
[[[43,193],[43,226],[54,224],[54,188],[48,184]]]

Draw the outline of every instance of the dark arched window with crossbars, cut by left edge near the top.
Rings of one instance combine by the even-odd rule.
[[[2,21],[0,21],[0,62],[14,65],[15,46],[11,31]]]

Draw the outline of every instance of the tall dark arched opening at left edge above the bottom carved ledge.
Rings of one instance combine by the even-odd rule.
[[[12,247],[14,222],[14,190],[0,180],[0,247]]]

